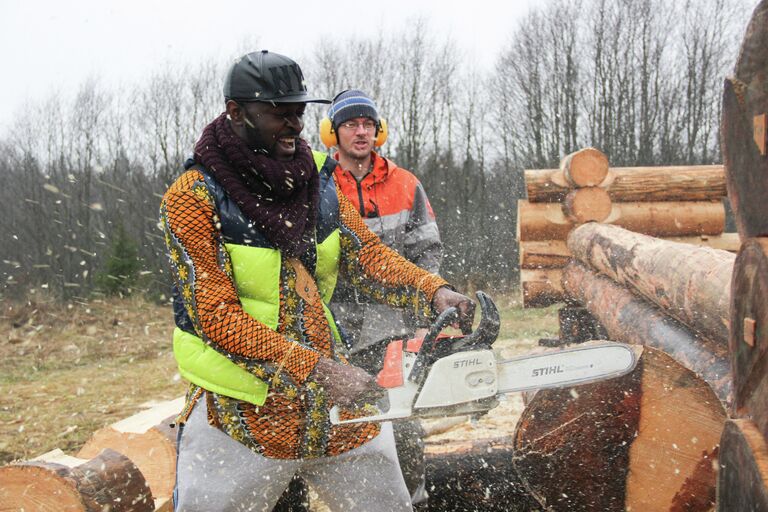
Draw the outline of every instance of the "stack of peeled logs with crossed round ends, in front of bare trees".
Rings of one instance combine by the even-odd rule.
[[[654,237],[735,252],[738,236],[725,228],[722,165],[609,167],[585,148],[559,169],[526,170],[527,200],[518,201],[520,288],[524,307],[565,299],[562,269],[573,228],[602,222]]]

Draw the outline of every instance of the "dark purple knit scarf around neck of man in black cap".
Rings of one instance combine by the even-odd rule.
[[[320,177],[309,145],[296,139],[292,161],[250,149],[222,114],[203,130],[195,161],[204,165],[272,244],[299,256],[313,241]]]

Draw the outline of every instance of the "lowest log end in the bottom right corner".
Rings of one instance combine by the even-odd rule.
[[[719,468],[718,512],[768,510],[768,446],[754,423],[726,422]]]

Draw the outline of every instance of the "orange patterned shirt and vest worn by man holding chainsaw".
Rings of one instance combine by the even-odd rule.
[[[279,459],[336,455],[378,434],[370,423],[332,426],[333,406],[314,381],[320,357],[346,362],[326,302],[337,277],[371,299],[432,314],[447,283],[387,248],[315,153],[320,202],[315,243],[284,257],[210,173],[193,162],[161,205],[174,277],[174,355],[211,425]],[[183,419],[184,413],[182,413]]]

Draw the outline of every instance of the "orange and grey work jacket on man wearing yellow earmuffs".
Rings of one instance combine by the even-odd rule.
[[[443,246],[424,187],[416,176],[391,160],[375,151],[371,157],[371,171],[361,180],[337,166],[334,178],[339,188],[384,244],[408,261],[437,274]],[[374,303],[346,281],[337,286],[331,308],[352,340],[352,353],[382,338],[412,333],[421,326],[408,311]]]

